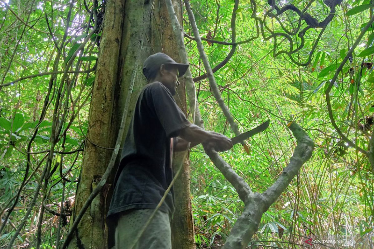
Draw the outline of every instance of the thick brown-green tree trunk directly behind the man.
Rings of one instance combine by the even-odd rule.
[[[181,2],[174,1],[174,8],[181,20]],[[88,141],[83,154],[74,215],[78,214],[107,168],[113,152],[108,148],[114,147],[125,103],[130,101],[124,134],[127,133],[138,93],[146,84],[142,74],[144,60],[156,52],[164,52],[176,61],[180,60],[164,1],[108,0],[103,25],[89,113]],[[129,89],[134,74],[135,84],[133,89]],[[130,100],[126,99],[128,91],[132,91]],[[176,100],[181,109],[186,110],[184,83]],[[177,161],[178,156],[175,158]],[[114,226],[106,223],[105,218],[113,178],[114,175],[91,203],[69,248],[105,249],[114,245],[113,238],[108,238],[108,234],[113,234]],[[189,167],[186,163],[175,184],[175,193],[177,211],[172,223],[173,248],[194,248]]]

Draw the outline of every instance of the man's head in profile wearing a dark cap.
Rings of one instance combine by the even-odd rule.
[[[179,86],[178,77],[184,75],[188,64],[177,63],[164,53],[156,53],[144,61],[143,74],[148,83],[160,81],[174,95]]]

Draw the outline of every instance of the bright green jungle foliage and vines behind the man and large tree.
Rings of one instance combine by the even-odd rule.
[[[71,226],[106,2],[0,0],[0,248],[56,248]],[[330,13],[328,0],[240,1],[233,35],[234,1],[190,1],[239,131],[271,121],[245,146],[220,153],[223,159],[263,192],[295,147],[285,120],[297,122],[315,142],[312,158],[264,213],[250,246],[302,248],[311,237],[334,234],[355,243],[318,246],[373,248],[374,5],[343,1],[325,28],[307,30],[302,41],[292,32],[308,20],[299,22],[289,10],[271,17],[269,3],[294,4],[319,21]],[[292,43],[267,29],[257,33],[254,14],[272,32],[288,32]],[[183,28],[205,129],[233,137],[208,79],[199,78],[205,68],[184,8]],[[189,161],[196,248],[218,248],[243,202],[201,146],[190,150]]]

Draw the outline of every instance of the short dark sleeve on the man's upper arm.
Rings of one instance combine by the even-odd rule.
[[[190,125],[186,116],[178,107],[168,88],[162,83],[155,82],[150,87],[150,100],[148,105],[153,106],[154,111],[165,130],[167,137],[177,137],[183,128]]]

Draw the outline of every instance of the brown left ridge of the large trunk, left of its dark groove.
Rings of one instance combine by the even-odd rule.
[[[88,134],[83,153],[83,165],[74,203],[73,219],[79,213],[92,190],[104,174],[116,137],[111,131],[114,87],[117,84],[118,58],[122,36],[123,0],[108,1],[105,6],[104,26],[97,62],[95,84],[89,111]],[[110,55],[110,56],[108,56]],[[118,130],[118,129],[117,129]],[[101,146],[101,147],[98,147]],[[109,187],[92,201],[79,223],[68,248],[107,248],[105,225],[105,195]]]

